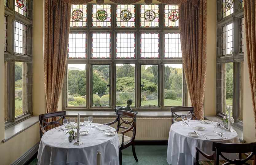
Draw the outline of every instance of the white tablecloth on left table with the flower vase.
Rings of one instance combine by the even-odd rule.
[[[61,128],[64,129],[64,126]],[[85,126],[80,128],[85,130]],[[108,136],[96,128],[89,131],[89,134],[80,136],[80,141],[84,143],[79,146],[73,144],[76,140],[69,143],[69,134],[65,135],[62,130],[47,131],[40,141],[38,165],[96,165],[97,150],[101,152],[101,165],[119,165],[118,135]]]

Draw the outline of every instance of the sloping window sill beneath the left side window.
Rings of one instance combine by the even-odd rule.
[[[32,116],[28,119],[25,119],[25,120],[13,125],[13,126],[7,128],[4,132],[5,137],[4,137],[4,140],[2,140],[2,142],[4,143],[4,142],[10,140],[14,136],[20,134],[21,132],[30,128],[31,126],[35,125],[38,122],[39,122],[38,121],[38,116]]]

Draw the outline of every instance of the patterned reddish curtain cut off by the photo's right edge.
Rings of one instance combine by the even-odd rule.
[[[254,112],[254,124],[256,129],[256,9],[255,0],[244,1],[244,22],[246,35],[246,49],[249,68],[249,79],[251,85],[252,105]],[[256,136],[256,135],[255,135]]]

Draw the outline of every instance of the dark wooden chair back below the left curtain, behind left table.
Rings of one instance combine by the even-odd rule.
[[[39,122],[40,122],[40,138],[42,138],[43,134],[54,128],[63,125],[62,120],[65,119],[66,111],[58,111],[58,112],[50,112],[39,115]],[[50,118],[57,118],[56,121],[47,122],[47,119]]]

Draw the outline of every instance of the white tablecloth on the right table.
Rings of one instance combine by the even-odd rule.
[[[191,120],[195,121],[195,120]],[[196,158],[196,149],[199,147],[203,149],[209,155],[212,155],[212,142],[224,142],[224,143],[239,143],[237,133],[224,130],[224,136],[226,140],[206,140],[203,136],[190,137],[189,132],[196,131],[199,134],[214,134],[213,124],[191,124],[191,127],[182,126],[182,122],[176,122],[172,124],[169,132],[168,149],[167,149],[167,162],[172,165],[193,165]],[[194,127],[202,126],[206,129],[203,131],[195,130]],[[220,128],[216,128],[216,131],[221,132]],[[218,136],[217,136],[218,137]],[[224,154],[230,159],[236,159],[236,154]],[[207,160],[201,154],[199,154],[199,160]]]

